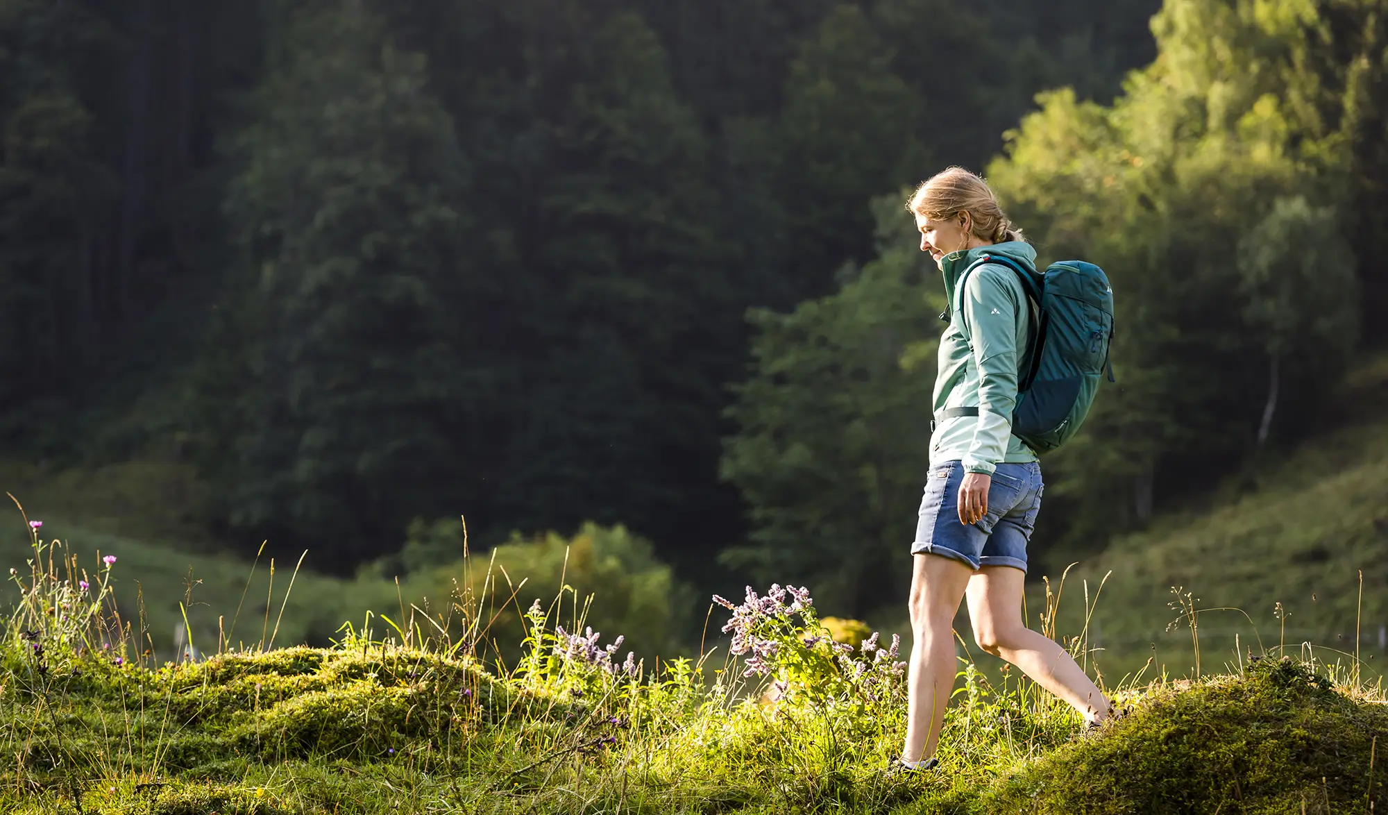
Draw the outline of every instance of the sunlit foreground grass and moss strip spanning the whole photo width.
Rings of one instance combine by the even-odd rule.
[[[1291,659],[1128,687],[1133,712],[1083,739],[1053,698],[966,671],[944,772],[913,778],[883,772],[899,684],[866,709],[799,689],[768,704],[737,664],[612,676],[552,655],[536,623],[550,633],[500,676],[468,639],[146,669],[19,612],[0,640],[0,811],[1328,814],[1382,796],[1388,705]]]

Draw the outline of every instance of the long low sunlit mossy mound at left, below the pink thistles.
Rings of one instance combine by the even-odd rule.
[[[285,648],[158,671],[86,661],[42,684],[15,683],[0,726],[26,733],[29,771],[108,769],[111,734],[142,766],[369,758],[450,739],[518,701],[480,666],[423,651]],[[214,773],[215,775],[215,773]]]

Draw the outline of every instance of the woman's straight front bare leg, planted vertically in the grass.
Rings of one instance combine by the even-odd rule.
[[[911,576],[913,644],[906,671],[906,744],[901,757],[920,761],[936,754],[945,707],[958,673],[954,618],[973,569],[937,554],[915,555]]]

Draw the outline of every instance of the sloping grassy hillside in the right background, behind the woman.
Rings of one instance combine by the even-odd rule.
[[[1388,659],[1388,632],[1381,633],[1388,626],[1388,358],[1360,368],[1337,404],[1320,422],[1324,430],[1284,460],[1249,468],[1201,507],[1163,516],[1081,562],[1066,583],[1060,630],[1081,630],[1083,582],[1092,594],[1109,573],[1088,637],[1105,648],[1098,657],[1110,673],[1153,654],[1153,668],[1194,671],[1190,616],[1173,589],[1188,596],[1187,608],[1212,610],[1196,618],[1202,671],[1237,662],[1235,635],[1245,659],[1260,644],[1348,665],[1357,629],[1364,672],[1381,673]],[[1213,611],[1220,608],[1233,611]]]

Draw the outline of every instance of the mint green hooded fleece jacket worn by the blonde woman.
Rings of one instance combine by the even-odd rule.
[[[1027,354],[1031,305],[1017,274],[999,264],[984,264],[970,272],[963,297],[956,297],[959,276],[984,254],[1008,255],[1026,268],[1035,268],[1037,253],[1022,240],[945,255],[941,271],[951,318],[940,337],[930,465],[960,460],[966,472],[992,475],[998,464],[1037,460],[1035,453],[1012,435],[1017,371]],[[954,308],[955,304],[960,308]],[[956,407],[977,407],[979,415],[940,419],[942,411]]]

